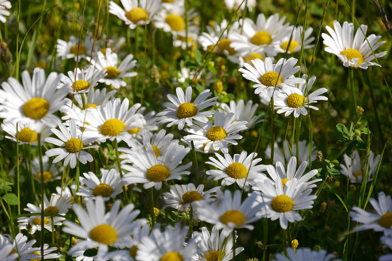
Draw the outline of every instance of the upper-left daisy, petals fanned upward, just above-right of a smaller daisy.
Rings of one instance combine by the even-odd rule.
[[[99,80],[106,85],[113,85],[114,88],[119,89],[121,86],[127,86],[121,78],[129,78],[138,75],[137,72],[130,72],[129,70],[136,66],[136,60],[132,60],[133,54],[128,54],[118,65],[118,56],[112,52],[112,49],[106,48],[106,54],[101,51],[97,53],[97,58],[92,59],[87,57],[87,61],[91,62],[97,69],[106,69],[106,76]]]

